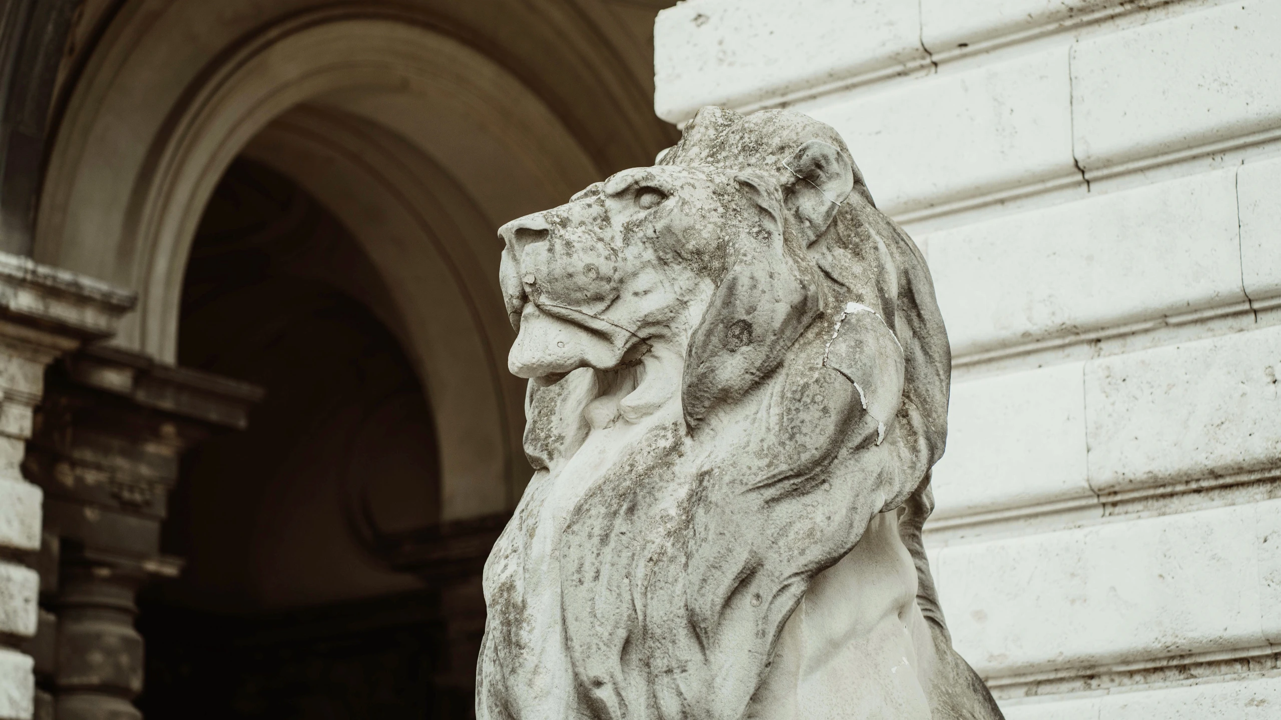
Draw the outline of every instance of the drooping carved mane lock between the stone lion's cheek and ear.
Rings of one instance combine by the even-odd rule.
[[[813,272],[803,251],[784,240],[778,184],[749,174],[735,181],[757,217],[735,238],[725,277],[685,351],[681,402],[692,428],[772,373],[819,313]]]

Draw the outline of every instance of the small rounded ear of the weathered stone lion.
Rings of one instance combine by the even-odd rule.
[[[787,208],[796,217],[797,233],[808,247],[819,240],[840,204],[854,188],[854,161],[849,154],[821,140],[806,142],[787,161],[794,176],[787,193]]]

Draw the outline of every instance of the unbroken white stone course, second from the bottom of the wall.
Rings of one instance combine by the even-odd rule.
[[[1278,514],[1268,501],[944,547],[956,647],[991,678],[1264,646],[1261,530]]]

